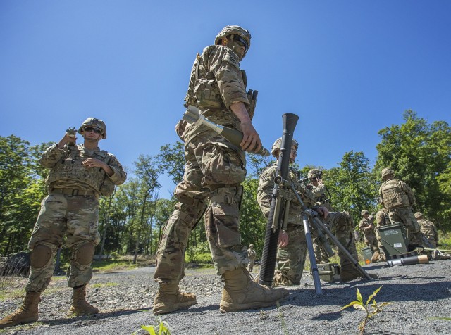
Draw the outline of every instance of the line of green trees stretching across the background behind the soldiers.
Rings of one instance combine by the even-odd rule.
[[[360,211],[378,210],[381,170],[390,166],[398,179],[415,192],[415,211],[421,211],[443,231],[451,228],[451,129],[445,121],[428,123],[412,110],[404,112],[404,123],[381,129],[376,163],[363,152],[349,151],[337,167],[296,167],[307,176],[311,168],[323,170],[335,210],[348,210],[354,222]],[[11,135],[0,137],[0,254],[27,249],[40,202],[47,194],[44,179],[48,170],[38,159],[50,143],[30,145]],[[99,232],[101,255],[154,255],[162,229],[173,211],[175,198],[159,197],[159,177],[166,174],[177,184],[183,179],[183,143],[161,146],[155,156],[141,155],[134,162],[133,177],[101,198]],[[243,244],[261,251],[266,220],[257,204],[259,175],[273,158],[247,155],[247,177],[243,183],[240,230]],[[187,253],[208,252],[201,220],[190,235]]]

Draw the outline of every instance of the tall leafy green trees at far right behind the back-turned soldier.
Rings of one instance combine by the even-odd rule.
[[[404,112],[402,125],[381,129],[381,143],[374,173],[380,179],[383,167],[390,166],[395,176],[409,184],[416,196],[414,210],[431,220],[451,227],[451,197],[447,185],[451,162],[451,128],[444,121],[428,124],[412,110]]]

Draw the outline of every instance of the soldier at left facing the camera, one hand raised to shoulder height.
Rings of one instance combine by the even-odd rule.
[[[31,272],[25,286],[23,305],[0,320],[0,328],[35,322],[42,291],[54,272],[54,256],[63,244],[72,249],[68,268],[68,286],[73,287],[69,315],[99,312],[87,303],[86,285],[92,277],[94,247],[99,244],[99,197],[112,194],[114,185],[125,182],[127,175],[115,156],[100,150],[106,138],[102,120],[88,118],[78,132],[84,144],[75,145],[75,131],[66,132],[58,144],[47,148],[39,163],[51,169],[46,184],[49,195],[41,204],[30,242]]]

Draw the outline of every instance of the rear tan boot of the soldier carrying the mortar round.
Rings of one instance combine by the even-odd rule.
[[[167,314],[189,308],[196,304],[196,296],[192,293],[183,293],[178,289],[178,284],[160,284],[158,293],[156,293],[154,315]]]

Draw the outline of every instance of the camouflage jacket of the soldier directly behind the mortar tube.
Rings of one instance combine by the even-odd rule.
[[[259,180],[259,187],[257,189],[257,202],[260,209],[267,218],[271,208],[271,200],[274,189],[274,177],[277,175],[277,163],[266,167],[261,173]],[[304,202],[305,206],[311,207],[314,205],[315,197],[311,191],[304,186],[297,183],[297,176],[295,170],[291,168],[288,170],[288,179],[295,184],[295,189]],[[293,195],[290,203],[290,210],[288,215],[288,224],[302,225],[301,220],[302,207],[297,198]]]

